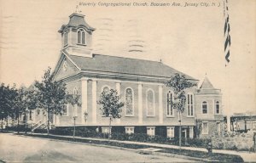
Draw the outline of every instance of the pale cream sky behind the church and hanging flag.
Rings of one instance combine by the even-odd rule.
[[[130,7],[99,3],[131,3]],[[148,3],[136,6],[134,3]],[[82,6],[79,3],[96,3]],[[151,3],[181,3],[150,6]],[[198,6],[185,7],[185,3]],[[206,7],[205,4],[215,3]],[[70,14],[85,15],[96,28],[95,53],[161,61],[222,90],[225,114],[256,110],[256,1],[229,1],[230,63],[224,59],[223,0],[0,0],[0,82],[28,87],[54,68],[61,50],[57,31]],[[220,6],[218,6],[220,5]],[[140,40],[142,53],[128,52]]]

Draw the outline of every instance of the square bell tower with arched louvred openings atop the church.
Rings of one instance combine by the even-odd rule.
[[[73,13],[67,25],[62,25],[61,49],[70,55],[92,57],[92,32],[96,29],[88,25],[83,14]]]

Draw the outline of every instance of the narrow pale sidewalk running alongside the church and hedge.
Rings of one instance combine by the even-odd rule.
[[[33,134],[34,135],[44,135],[42,133],[33,133]],[[51,135],[51,134],[49,134],[49,135]],[[62,138],[73,138],[72,136],[61,136],[61,135],[51,135],[51,136],[60,137],[60,138],[61,137]],[[155,147],[155,148],[179,149],[179,146],[169,145],[169,144],[161,144],[161,143],[143,143],[143,142],[120,141],[120,140],[111,140],[111,139],[108,140],[108,139],[103,139],[103,138],[81,138],[81,137],[75,137],[75,138],[85,139],[85,140],[110,141],[110,142],[126,143],[126,144],[148,145],[148,146]],[[207,149],[204,149],[204,148],[181,147],[181,149],[207,152]],[[221,153],[221,154],[230,154],[230,155],[240,155],[241,158],[245,162],[256,162],[256,153],[252,153],[252,152],[224,150],[224,149],[213,149],[212,152],[213,153]]]

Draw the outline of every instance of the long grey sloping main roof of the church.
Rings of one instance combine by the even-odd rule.
[[[167,78],[173,76],[174,73],[183,74],[182,72],[175,70],[170,66],[156,61],[129,59],[101,54],[93,54],[92,58],[69,54],[67,55],[76,65],[79,66],[81,70],[94,70],[137,76],[159,76]],[[195,80],[191,76],[185,76],[190,80]]]

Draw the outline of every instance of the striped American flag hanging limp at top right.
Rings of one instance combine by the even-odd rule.
[[[225,60],[228,64],[230,62],[230,16],[229,16],[228,0],[224,0],[224,53]],[[227,65],[226,64],[226,65]]]

